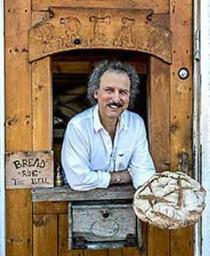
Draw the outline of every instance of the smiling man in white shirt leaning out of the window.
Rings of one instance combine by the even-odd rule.
[[[133,181],[134,188],[155,173],[142,118],[134,105],[139,77],[134,67],[102,61],[88,82],[94,106],[67,125],[61,162],[71,189],[108,188]]]

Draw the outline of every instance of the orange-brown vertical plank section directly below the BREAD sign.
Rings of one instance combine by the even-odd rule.
[[[7,255],[32,255],[32,203],[29,189],[7,190]]]

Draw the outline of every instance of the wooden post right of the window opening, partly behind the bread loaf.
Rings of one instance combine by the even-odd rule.
[[[170,170],[170,66],[150,57],[150,151],[158,172]],[[170,232],[148,226],[148,256],[168,256]]]

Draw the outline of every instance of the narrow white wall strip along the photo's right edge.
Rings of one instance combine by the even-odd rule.
[[[202,185],[207,206],[202,214],[202,256],[210,255],[210,1],[201,1],[201,144]]]

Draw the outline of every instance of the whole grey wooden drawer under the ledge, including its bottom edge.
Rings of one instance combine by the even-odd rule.
[[[131,204],[70,204],[69,217],[73,248],[81,248],[82,243],[84,248],[97,248],[99,243],[104,248],[113,248],[111,243],[119,248],[128,243],[129,237],[137,243],[137,219]]]

